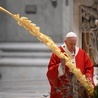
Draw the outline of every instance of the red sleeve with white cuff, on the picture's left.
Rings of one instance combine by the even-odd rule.
[[[47,78],[50,85],[57,87],[59,82],[58,77],[61,75],[63,75],[63,71],[60,67],[60,58],[53,53],[48,64],[47,71]]]

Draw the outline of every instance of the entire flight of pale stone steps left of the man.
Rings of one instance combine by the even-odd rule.
[[[0,98],[49,98],[43,43],[0,43]]]

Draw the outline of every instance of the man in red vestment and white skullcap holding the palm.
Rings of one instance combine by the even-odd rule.
[[[76,47],[77,35],[69,32],[64,44],[59,46],[61,52],[66,52],[76,68],[94,85],[93,65],[89,56]],[[73,73],[65,65],[66,60],[60,59],[54,53],[48,65],[47,78],[50,83],[50,98],[89,98],[85,88],[79,83]]]

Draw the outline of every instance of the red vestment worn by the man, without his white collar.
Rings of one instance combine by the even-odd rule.
[[[62,46],[59,47],[61,52],[65,52]],[[78,49],[78,53],[75,56],[76,68],[79,68],[87,78],[91,79],[93,82],[93,65],[88,55],[82,49]],[[50,83],[50,98],[84,98],[83,97],[83,87],[79,82],[76,82],[73,86],[72,77],[74,76],[67,66],[65,66],[65,74],[62,76],[59,75],[58,67],[60,65],[60,58],[56,56],[54,53],[51,56],[47,78]],[[76,93],[73,93],[73,87],[76,88]],[[85,88],[84,88],[85,89]],[[78,93],[78,94],[77,94]],[[78,95],[78,97],[73,97],[74,95]],[[87,98],[87,97],[85,97]]]

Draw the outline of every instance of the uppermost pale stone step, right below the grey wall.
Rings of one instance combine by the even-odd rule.
[[[5,51],[15,51],[15,50],[19,50],[19,51],[37,51],[37,50],[48,50],[49,48],[44,44],[44,43],[14,43],[14,42],[6,42],[6,43],[0,43],[0,49],[1,50],[5,50]]]

